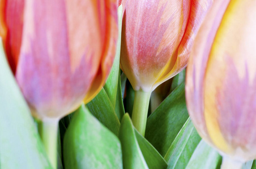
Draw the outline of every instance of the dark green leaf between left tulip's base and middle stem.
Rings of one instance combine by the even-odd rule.
[[[104,88],[87,106],[90,112],[115,135],[118,135],[120,121]]]

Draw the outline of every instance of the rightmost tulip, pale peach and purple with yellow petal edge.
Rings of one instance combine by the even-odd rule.
[[[186,101],[222,168],[256,158],[256,1],[216,0],[195,39]],[[228,167],[229,166],[229,167]]]

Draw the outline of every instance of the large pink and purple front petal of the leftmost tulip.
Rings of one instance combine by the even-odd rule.
[[[16,79],[40,118],[70,113],[94,85],[108,37],[104,5],[100,1],[26,1]]]

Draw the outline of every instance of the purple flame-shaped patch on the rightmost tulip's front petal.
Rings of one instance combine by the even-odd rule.
[[[245,64],[246,73],[240,77],[239,69],[231,56],[224,56],[226,69],[221,87],[216,88],[215,103],[217,107],[217,122],[225,140],[238,152],[229,154],[246,157],[244,161],[256,157],[256,75],[250,82],[248,66]],[[256,61],[256,60],[255,60]],[[253,152],[253,153],[247,153]],[[241,159],[240,157],[237,159]]]

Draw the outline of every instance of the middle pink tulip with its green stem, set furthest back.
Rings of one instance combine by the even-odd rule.
[[[135,90],[132,121],[144,135],[148,99],[178,74],[212,0],[122,1],[121,69]]]

